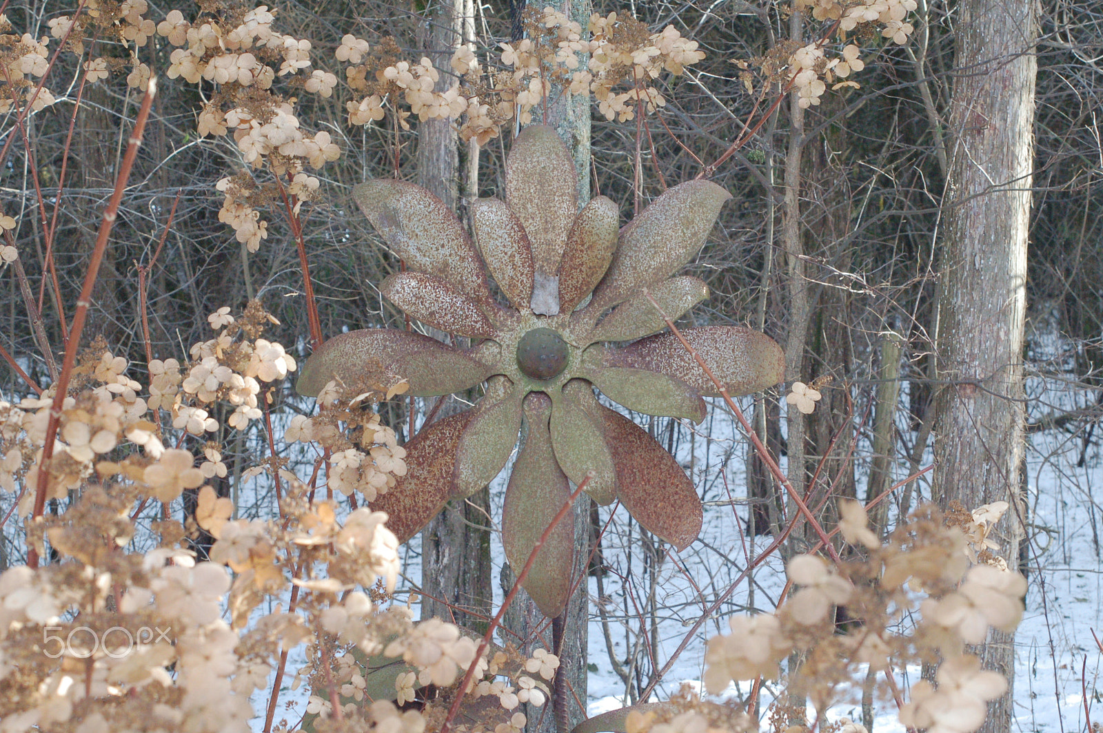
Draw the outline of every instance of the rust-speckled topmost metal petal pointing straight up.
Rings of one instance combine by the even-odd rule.
[[[529,125],[505,160],[505,201],[528,234],[536,271],[554,276],[578,211],[575,161],[559,136]]]

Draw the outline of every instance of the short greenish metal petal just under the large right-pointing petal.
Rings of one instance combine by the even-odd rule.
[[[686,382],[647,369],[595,367],[583,375],[609,399],[630,410],[666,418],[705,419],[705,400]]]

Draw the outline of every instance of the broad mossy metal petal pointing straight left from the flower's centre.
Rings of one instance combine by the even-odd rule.
[[[295,388],[300,395],[318,397],[331,379],[371,388],[397,375],[409,379],[410,395],[431,397],[462,391],[491,374],[491,367],[436,338],[411,331],[365,328],[319,346],[302,365]]]

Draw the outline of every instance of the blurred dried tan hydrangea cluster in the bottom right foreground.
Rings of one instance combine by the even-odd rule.
[[[990,507],[978,511],[993,514]],[[858,665],[880,671],[941,660],[938,687],[914,686],[900,722],[932,731],[977,730],[987,701],[1004,692],[1006,680],[979,671],[979,659],[965,645],[983,643],[989,628],[1018,626],[1026,579],[1006,567],[970,567],[966,537],[931,506],[917,510],[885,545],[869,531],[860,504],[844,500],[840,514],[844,538],[864,548],[868,559],[837,568],[815,556],[790,560],[790,582],[800,590],[774,613],[732,616],[731,633],[709,639],[706,689],[720,693],[732,680],[772,679],[783,659],[802,651],[806,661],[789,680],[790,689],[825,710],[861,677]],[[832,633],[836,607],[845,607],[854,622],[845,634]],[[919,624],[893,632],[911,614],[921,616]]]

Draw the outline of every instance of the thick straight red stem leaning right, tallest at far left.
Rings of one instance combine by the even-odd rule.
[[[73,376],[73,367],[76,365],[76,352],[81,345],[81,333],[84,331],[85,321],[88,319],[92,291],[96,285],[96,277],[99,273],[99,265],[104,260],[104,252],[107,250],[107,241],[111,236],[111,227],[115,226],[115,218],[118,216],[119,203],[122,201],[122,193],[126,191],[127,180],[130,177],[130,169],[133,168],[135,159],[138,157],[138,148],[141,147],[142,132],[146,130],[146,122],[149,120],[149,110],[153,105],[153,96],[156,94],[157,77],[150,77],[149,85],[146,87],[146,95],[141,100],[141,108],[138,110],[138,119],[135,120],[135,128],[130,133],[130,141],[127,143],[127,152],[122,157],[119,175],[115,181],[115,191],[111,192],[111,198],[107,203],[103,222],[99,224],[96,246],[92,251],[88,271],[84,276],[84,287],[81,289],[81,297],[76,301],[76,312],[73,314],[73,328],[69,331],[69,339],[65,346],[65,359],[62,363],[62,373],[57,377],[57,391],[54,394],[54,403],[50,408],[50,422],[46,423],[46,436],[42,445],[42,462],[39,464],[39,485],[35,487],[34,511],[32,513],[34,519],[42,516],[46,506],[46,486],[50,483],[50,460],[54,454],[54,438],[57,435],[57,425],[61,422],[65,395],[68,391],[69,378]],[[26,564],[31,568],[39,567],[39,553],[34,548],[31,548],[26,554]]]

